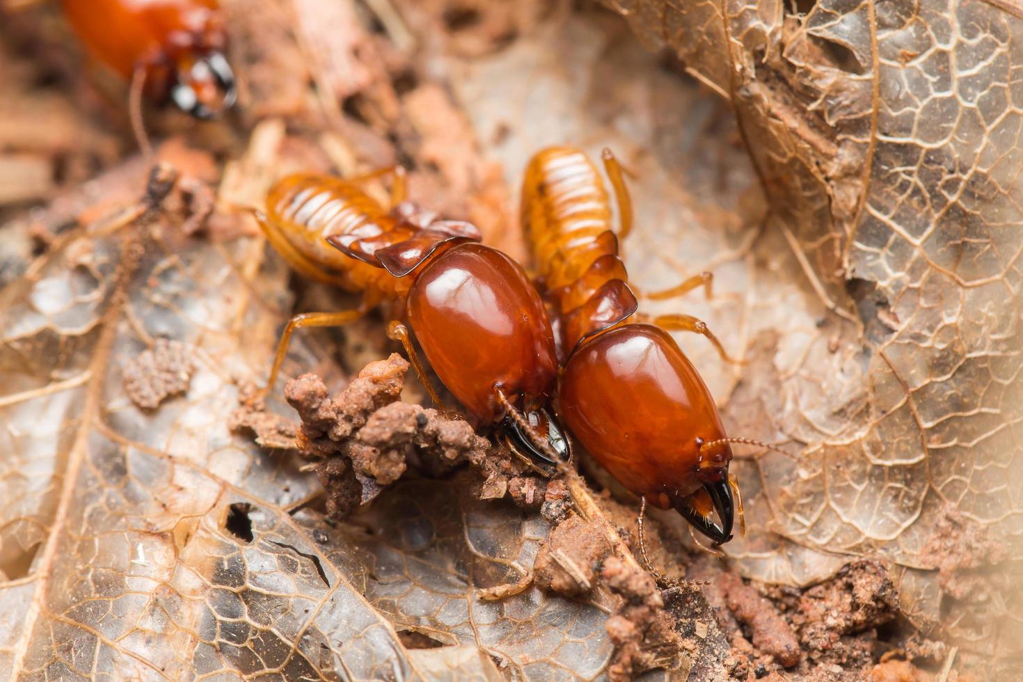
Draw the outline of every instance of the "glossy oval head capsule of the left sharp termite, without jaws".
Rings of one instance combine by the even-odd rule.
[[[480,243],[446,252],[416,278],[407,311],[437,375],[481,422],[503,412],[495,387],[525,409],[539,407],[553,388],[554,338],[543,302],[504,254]]]

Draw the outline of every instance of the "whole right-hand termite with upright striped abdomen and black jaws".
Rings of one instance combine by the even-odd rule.
[[[604,161],[621,214],[617,235],[604,180],[581,150],[539,151],[524,181],[523,227],[564,363],[559,414],[626,488],[660,508],[678,510],[715,543],[727,542],[733,491],[738,498],[728,473],[729,439],[700,373],[664,329],[701,333],[726,355],[694,317],[647,318],[636,312],[618,245],[631,226],[631,203],[614,156],[606,150]],[[702,273],[648,298],[699,286],[709,293],[710,281],[709,273]],[[739,509],[741,515],[741,498]]]

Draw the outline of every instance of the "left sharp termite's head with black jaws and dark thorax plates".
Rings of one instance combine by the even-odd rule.
[[[469,224],[439,221],[371,252],[358,241],[328,241],[414,280],[406,299],[412,333],[477,421],[500,422],[524,454],[568,459],[568,440],[546,409],[558,373],[546,308],[522,266],[478,238]],[[522,413],[518,420],[508,418],[509,405]]]

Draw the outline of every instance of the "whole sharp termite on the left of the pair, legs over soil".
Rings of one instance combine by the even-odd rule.
[[[390,208],[360,186],[387,175],[394,178]],[[299,273],[363,298],[356,310],[293,317],[266,390],[276,381],[296,329],[340,326],[392,302],[388,335],[404,346],[435,404],[441,401],[413,336],[478,423],[496,424],[521,456],[568,460],[569,442],[546,406],[558,359],[536,288],[522,266],[480,243],[474,225],[437,220],[404,197],[400,167],[347,180],[292,175],[271,187],[265,213],[256,212],[271,245]]]

